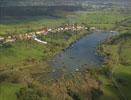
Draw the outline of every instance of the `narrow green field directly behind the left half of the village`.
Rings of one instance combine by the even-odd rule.
[[[63,19],[37,19],[37,20],[22,20],[13,24],[0,24],[0,35],[6,34],[21,34],[30,31],[37,31],[43,27],[56,27],[64,23]]]

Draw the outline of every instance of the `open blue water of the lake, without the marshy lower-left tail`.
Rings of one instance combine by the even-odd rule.
[[[50,61],[50,65],[55,70],[66,69],[68,71],[78,71],[82,66],[99,67],[103,58],[97,54],[98,45],[116,34],[117,32],[107,31],[92,32],[56,55]]]

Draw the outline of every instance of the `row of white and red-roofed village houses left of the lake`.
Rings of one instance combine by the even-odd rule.
[[[49,32],[56,33],[56,32],[62,32],[62,31],[80,31],[83,29],[87,29],[85,26],[81,25],[64,25],[63,27],[57,27],[57,28],[43,28],[36,32],[30,32],[25,34],[18,34],[18,35],[10,35],[7,37],[0,36],[0,43],[11,43],[15,42],[17,40],[27,40],[32,39],[34,35],[47,35]]]

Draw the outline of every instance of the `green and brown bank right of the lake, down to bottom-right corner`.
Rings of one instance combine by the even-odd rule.
[[[103,95],[100,100],[130,100],[131,34],[120,34],[99,48],[104,65],[97,75]]]

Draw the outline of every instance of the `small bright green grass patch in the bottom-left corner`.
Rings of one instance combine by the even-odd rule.
[[[0,99],[1,100],[17,100],[16,92],[20,90],[20,84],[1,83]]]

